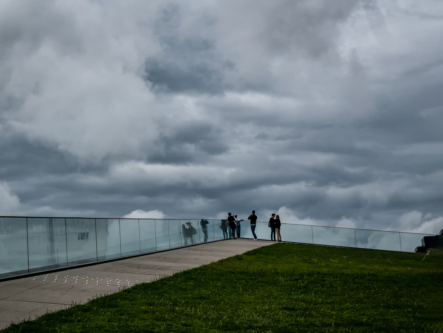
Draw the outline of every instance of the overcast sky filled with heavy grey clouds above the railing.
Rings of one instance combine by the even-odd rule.
[[[0,0],[0,215],[435,233],[442,125],[439,0]]]

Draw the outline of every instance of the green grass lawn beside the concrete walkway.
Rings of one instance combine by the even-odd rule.
[[[277,243],[2,332],[443,332],[443,257],[423,257]]]

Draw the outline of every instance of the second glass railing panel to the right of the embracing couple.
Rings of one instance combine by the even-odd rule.
[[[312,226],[314,244],[355,247],[354,229]]]

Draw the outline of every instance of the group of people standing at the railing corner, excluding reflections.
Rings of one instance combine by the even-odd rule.
[[[255,215],[255,211],[252,211],[252,214],[248,217],[251,225],[251,232],[254,236],[253,240],[257,240],[257,235],[255,234],[255,227],[257,224],[257,215]],[[226,222],[224,222],[226,221]],[[235,235],[237,234],[237,238],[240,237],[240,231],[241,231],[241,225],[240,222],[243,221],[243,219],[239,219],[237,215],[231,215],[231,213],[228,213],[228,219],[222,220],[221,222],[221,230],[223,231],[223,237],[224,238],[230,238],[228,235],[228,226],[231,228],[232,231],[232,239],[235,239]],[[281,242],[281,235],[280,235],[280,216],[272,214],[271,218],[268,222],[268,227],[271,228],[271,240],[276,242]],[[277,239],[276,239],[277,235]],[[272,239],[273,237],[273,239]]]

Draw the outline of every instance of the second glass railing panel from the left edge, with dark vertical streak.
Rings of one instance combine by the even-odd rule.
[[[27,219],[29,271],[67,266],[65,219]]]

